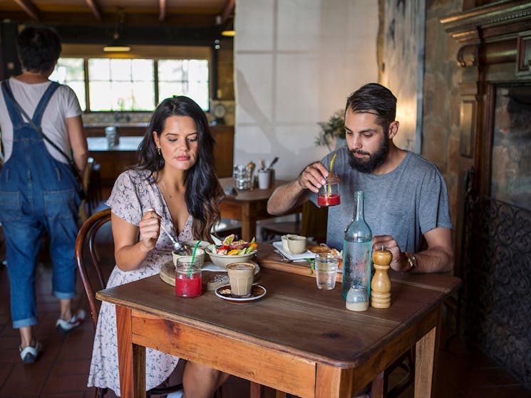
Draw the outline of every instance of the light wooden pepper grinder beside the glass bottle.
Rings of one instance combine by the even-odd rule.
[[[371,281],[371,306],[374,308],[389,308],[391,306],[391,279],[389,267],[393,260],[391,251],[381,246],[380,250],[373,253],[373,264],[376,269]]]

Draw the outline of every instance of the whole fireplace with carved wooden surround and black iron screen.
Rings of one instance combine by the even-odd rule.
[[[455,275],[463,279],[463,294],[456,312],[466,325],[467,340],[531,387],[529,372],[522,367],[526,358],[517,356],[531,347],[518,332],[530,325],[518,313],[526,307],[519,301],[519,290],[503,285],[498,271],[528,273],[520,258],[528,258],[529,245],[520,244],[520,236],[528,236],[530,212],[505,199],[510,195],[500,195],[500,182],[516,192],[515,185],[528,174],[520,164],[525,164],[530,142],[531,1],[495,1],[445,16],[440,23],[458,44],[453,47],[461,67],[455,75],[460,91]],[[529,193],[522,187],[516,199]],[[520,247],[525,250],[517,253]],[[496,307],[505,294],[511,305]]]

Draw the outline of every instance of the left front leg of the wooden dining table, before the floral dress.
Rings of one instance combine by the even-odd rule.
[[[145,347],[133,344],[131,310],[116,305],[120,395],[145,398]]]

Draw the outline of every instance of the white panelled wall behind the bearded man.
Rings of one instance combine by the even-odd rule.
[[[237,0],[235,30],[234,163],[292,179],[327,152],[316,123],[378,81],[378,1]]]

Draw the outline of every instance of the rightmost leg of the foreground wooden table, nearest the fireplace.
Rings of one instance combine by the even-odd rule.
[[[431,397],[436,332],[437,328],[433,328],[416,344],[415,398]]]

